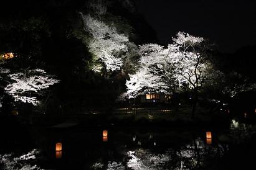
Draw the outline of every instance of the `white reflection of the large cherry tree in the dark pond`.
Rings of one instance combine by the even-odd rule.
[[[196,138],[191,144],[169,148],[162,154],[141,149],[129,151],[127,166],[132,169],[202,169],[213,166],[225,151],[226,145],[205,145],[201,138]]]

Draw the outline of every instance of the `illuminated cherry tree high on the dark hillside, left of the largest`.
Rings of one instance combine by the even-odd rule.
[[[102,62],[107,71],[120,70],[123,66],[120,55],[128,50],[126,43],[129,42],[129,38],[124,34],[118,34],[115,27],[110,27],[90,15],[80,14],[85,30],[92,36],[88,42],[88,48],[95,56],[95,60]],[[102,65],[96,62],[92,69],[100,72]]]

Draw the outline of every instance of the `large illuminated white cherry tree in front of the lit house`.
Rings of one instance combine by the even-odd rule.
[[[178,32],[167,48],[157,44],[141,45],[140,69],[126,81],[127,96],[152,91],[172,94],[188,87],[194,95],[193,117],[199,89],[214,73],[211,62],[201,53],[203,41],[201,37]]]

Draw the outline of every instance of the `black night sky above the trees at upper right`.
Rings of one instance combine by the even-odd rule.
[[[222,52],[256,45],[256,1],[135,0],[138,11],[168,44],[177,32],[209,38]]]

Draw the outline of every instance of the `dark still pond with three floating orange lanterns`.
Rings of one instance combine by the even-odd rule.
[[[255,128],[9,128],[0,169],[247,169]]]

